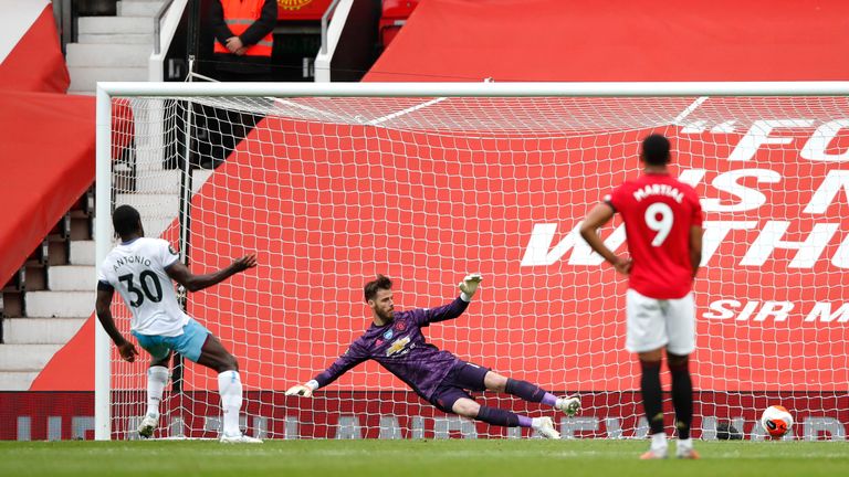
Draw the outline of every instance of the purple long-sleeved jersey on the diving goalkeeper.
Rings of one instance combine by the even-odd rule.
[[[421,328],[432,322],[457,318],[468,306],[468,301],[458,297],[438,308],[398,311],[392,321],[384,326],[373,322],[366,332],[354,340],[348,350],[315,377],[315,380],[324,388],[355,365],[373,359],[428,400],[458,359],[424,341]]]

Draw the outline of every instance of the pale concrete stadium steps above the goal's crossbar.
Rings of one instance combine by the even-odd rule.
[[[92,94],[98,81],[147,81],[154,17],[161,0],[123,0],[116,17],[81,17],[67,44],[72,94]]]

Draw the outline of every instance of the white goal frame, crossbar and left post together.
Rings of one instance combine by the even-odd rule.
[[[675,97],[675,96],[848,96],[849,82],[607,82],[607,83],[97,83],[95,258],[112,244],[113,97]],[[188,198],[181,198],[187,200]],[[94,435],[112,438],[111,347],[95,327]]]

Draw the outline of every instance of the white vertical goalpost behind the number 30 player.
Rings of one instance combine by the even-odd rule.
[[[112,97],[97,86],[96,168],[95,168],[95,263],[99,265],[112,244]],[[112,369],[108,335],[99,325],[94,326],[94,438],[112,438]]]

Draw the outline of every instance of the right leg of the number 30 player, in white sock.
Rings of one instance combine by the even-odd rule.
[[[259,444],[261,439],[250,437],[239,430],[239,411],[242,409],[242,381],[239,377],[239,362],[230,354],[221,341],[212,335],[201,348],[198,364],[218,371],[218,392],[221,395],[221,411],[224,414],[221,442],[228,444]]]

